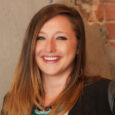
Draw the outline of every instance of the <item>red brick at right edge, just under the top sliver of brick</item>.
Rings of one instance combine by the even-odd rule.
[[[115,20],[115,4],[105,5],[105,18],[107,21]]]

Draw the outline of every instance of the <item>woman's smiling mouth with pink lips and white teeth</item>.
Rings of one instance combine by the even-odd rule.
[[[61,56],[42,56],[41,58],[45,63],[57,63],[60,61]]]

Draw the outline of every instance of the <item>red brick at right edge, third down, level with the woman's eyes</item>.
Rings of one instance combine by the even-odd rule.
[[[107,29],[108,29],[108,32],[109,32],[109,35],[108,37],[111,39],[115,39],[115,23],[106,23],[105,24]]]

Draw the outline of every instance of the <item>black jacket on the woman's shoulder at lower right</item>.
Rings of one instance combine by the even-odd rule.
[[[86,85],[68,115],[115,115],[115,82],[100,79]]]

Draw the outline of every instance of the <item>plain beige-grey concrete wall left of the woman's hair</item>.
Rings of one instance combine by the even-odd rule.
[[[43,6],[64,0],[0,0],[0,109],[9,90],[31,17]]]

